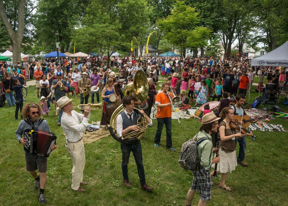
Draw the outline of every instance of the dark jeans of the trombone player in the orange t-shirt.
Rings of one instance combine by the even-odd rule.
[[[171,127],[172,127],[172,120],[171,117],[165,118],[157,118],[157,131],[155,134],[155,144],[160,143],[161,133],[163,129],[163,125],[165,124],[166,127],[166,148],[172,147],[172,134],[171,134]]]

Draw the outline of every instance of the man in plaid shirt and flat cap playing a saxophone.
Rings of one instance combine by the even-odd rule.
[[[83,72],[82,73],[82,77],[81,79],[79,79],[79,83],[78,83],[78,87],[80,90],[80,104],[84,104],[84,98],[85,98],[85,104],[88,103],[88,99],[89,99],[89,94],[91,94],[91,80],[87,77],[87,73]],[[83,113],[83,109],[81,110],[81,113]]]

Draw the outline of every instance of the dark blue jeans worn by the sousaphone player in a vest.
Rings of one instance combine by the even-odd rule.
[[[144,166],[143,166],[143,159],[142,159],[142,147],[140,141],[137,141],[135,144],[122,144],[121,143],[121,151],[122,151],[122,174],[123,179],[129,179],[128,178],[128,163],[129,163],[129,157],[130,153],[132,151],[136,165],[137,165],[137,171],[138,176],[140,178],[141,185],[145,185],[145,173],[144,173]]]

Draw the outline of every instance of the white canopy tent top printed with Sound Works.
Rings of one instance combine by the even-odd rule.
[[[288,41],[267,54],[251,60],[251,66],[288,66]]]

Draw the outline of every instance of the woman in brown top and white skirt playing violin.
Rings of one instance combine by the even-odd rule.
[[[228,172],[231,173],[234,171],[237,166],[235,138],[238,139],[245,135],[253,135],[252,132],[250,132],[250,134],[236,133],[235,129],[231,128],[229,125],[230,121],[233,120],[233,117],[234,110],[231,107],[224,107],[220,113],[220,118],[223,118],[223,121],[219,124],[220,162],[217,164],[217,174],[221,173],[221,183],[219,187],[227,191],[231,191],[231,188],[225,184],[227,174]],[[213,174],[214,171],[211,172],[211,176],[213,176]]]

